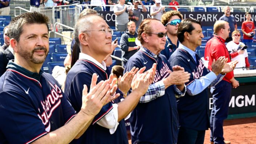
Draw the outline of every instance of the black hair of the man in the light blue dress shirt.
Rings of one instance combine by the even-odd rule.
[[[177,31],[177,37],[179,39],[179,42],[184,41],[184,33],[185,32],[192,34],[191,31],[193,31],[195,29],[195,27],[192,25],[192,23],[201,25],[200,21],[191,19],[191,18],[187,18],[187,19],[181,21],[181,23],[178,26],[178,31]]]

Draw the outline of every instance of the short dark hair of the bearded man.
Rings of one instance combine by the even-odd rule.
[[[10,22],[7,32],[8,37],[20,41],[20,35],[22,34],[23,26],[25,24],[45,24],[47,29],[49,29],[48,22],[49,18],[38,12],[20,14]]]

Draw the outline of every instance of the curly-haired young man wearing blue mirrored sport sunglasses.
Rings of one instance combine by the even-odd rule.
[[[170,56],[179,46],[177,30],[181,20],[182,14],[176,10],[166,12],[162,15],[161,22],[163,25],[165,25],[167,32],[165,49],[161,51],[161,54],[165,55],[167,59],[170,58]]]

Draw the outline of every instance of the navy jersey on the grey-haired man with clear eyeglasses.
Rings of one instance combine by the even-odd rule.
[[[68,95],[69,101],[75,110],[80,111],[82,106],[82,90],[86,84],[88,91],[90,90],[92,74],[97,73],[97,83],[107,80],[110,75],[108,68],[106,70],[99,67],[94,62],[85,59],[79,59],[67,74],[65,93]],[[120,102],[120,97],[115,99],[115,103]],[[112,103],[109,102],[103,106],[100,112],[94,117],[93,122],[86,132],[77,140],[77,143],[83,144],[128,144],[127,133],[124,120],[119,122],[114,134],[110,134],[108,128],[102,127],[96,122],[103,118],[112,110]]]

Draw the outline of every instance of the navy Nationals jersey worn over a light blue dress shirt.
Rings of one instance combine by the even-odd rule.
[[[187,86],[195,79],[200,79],[209,73],[197,54],[195,54],[195,58],[196,62],[189,52],[178,48],[169,59],[171,66],[180,65],[186,72],[191,74],[189,82],[186,83]],[[179,125],[198,131],[208,130],[209,118],[207,103],[207,88],[194,96],[190,96],[186,92],[184,97],[177,98]]]

